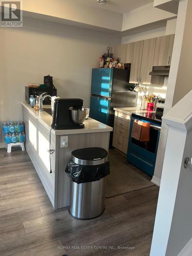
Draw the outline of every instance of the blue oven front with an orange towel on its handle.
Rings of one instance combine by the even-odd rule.
[[[150,123],[149,142],[142,142],[131,137],[133,122],[135,119]],[[132,116],[129,145],[127,150],[127,161],[137,166],[150,176],[154,175],[160,131],[160,123],[153,122],[153,120],[146,120],[142,117],[139,118]]]

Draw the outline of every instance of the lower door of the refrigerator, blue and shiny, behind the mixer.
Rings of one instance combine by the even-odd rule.
[[[91,96],[90,117],[104,124],[109,124],[110,98]]]

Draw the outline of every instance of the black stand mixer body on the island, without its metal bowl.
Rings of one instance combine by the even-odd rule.
[[[70,108],[82,109],[82,99],[55,99],[53,121],[51,127],[55,130],[82,129],[83,123],[75,123],[72,120]]]

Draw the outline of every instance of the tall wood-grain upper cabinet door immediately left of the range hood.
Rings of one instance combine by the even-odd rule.
[[[152,76],[149,73],[153,68],[155,54],[156,38],[147,39],[143,42],[143,54],[141,61],[141,72],[139,82],[142,84],[151,84]]]

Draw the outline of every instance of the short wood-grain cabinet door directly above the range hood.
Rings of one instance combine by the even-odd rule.
[[[172,60],[175,35],[157,37],[153,66],[168,66]]]

